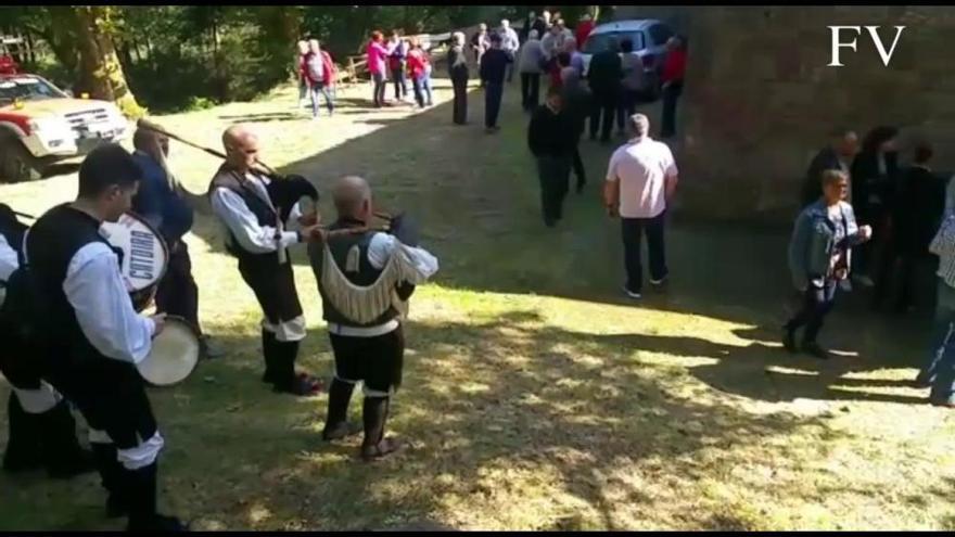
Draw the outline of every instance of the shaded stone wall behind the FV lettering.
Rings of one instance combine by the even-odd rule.
[[[934,167],[955,169],[955,8],[621,7],[616,17],[662,18],[689,37],[680,101],[683,212],[786,221],[812,155],[837,125],[862,136],[903,128],[903,149],[926,138]],[[857,52],[830,61],[829,25],[878,25],[888,67],[864,31]],[[848,38],[848,35],[846,35]],[[903,155],[907,159],[908,151]]]

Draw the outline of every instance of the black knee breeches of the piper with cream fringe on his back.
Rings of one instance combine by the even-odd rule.
[[[397,329],[374,337],[329,334],[335,356],[335,376],[348,382],[364,382],[368,389],[382,393],[402,385],[405,360],[405,334]]]

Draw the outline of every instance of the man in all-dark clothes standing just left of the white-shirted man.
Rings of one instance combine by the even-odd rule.
[[[547,91],[547,101],[534,111],[527,127],[527,145],[537,161],[544,225],[552,228],[562,217],[574,153],[574,125],[564,113],[558,88]]]

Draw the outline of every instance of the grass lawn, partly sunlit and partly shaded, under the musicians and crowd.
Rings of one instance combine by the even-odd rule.
[[[359,439],[320,442],[326,395],[259,382],[258,308],[199,214],[187,240],[201,318],[228,355],[151,393],[163,509],[202,529],[955,529],[955,413],[906,384],[924,316],[874,317],[857,291],[822,336],[840,355],[791,357],[776,331],[790,306],[785,233],[688,222],[668,230],[668,287],[621,298],[619,223],[599,203],[610,148],[583,142],[590,182],[545,229],[518,88],[496,136],[478,90],[472,125],[451,125],[446,79],[423,112],[368,110],[361,86],[317,122],[293,110],[292,89],[156,118],[216,148],[226,125],[253,122],[263,158],[320,189],[365,176],[380,205],[418,218],[442,265],[411,301],[389,423],[410,447],[365,464]],[[173,152],[180,180],[204,192],[219,162]],[[75,181],[0,186],[0,199],[39,214]],[[300,359],[329,376],[315,278],[303,251],[293,257],[310,330]],[[0,529],[122,527],[103,501],[92,475],[0,475]]]

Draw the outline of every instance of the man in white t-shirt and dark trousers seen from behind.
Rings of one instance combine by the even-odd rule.
[[[627,281],[624,291],[639,298],[642,287],[640,240],[647,234],[650,283],[666,280],[663,228],[666,206],[676,191],[676,162],[670,148],[650,138],[650,120],[644,114],[629,118],[633,138],[613,152],[603,186],[603,202],[611,217],[620,215]]]

